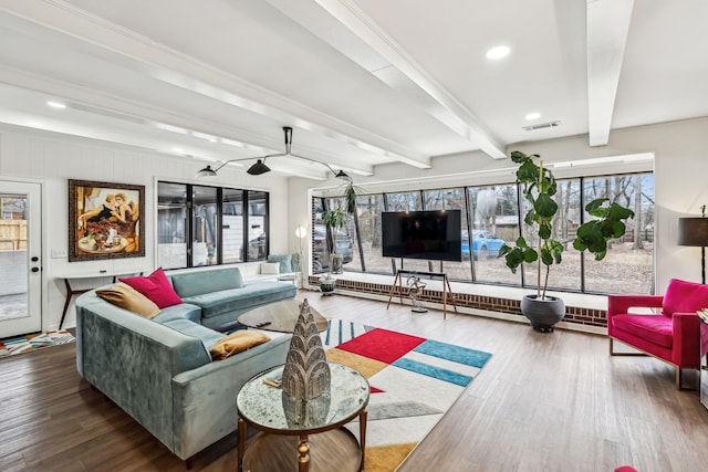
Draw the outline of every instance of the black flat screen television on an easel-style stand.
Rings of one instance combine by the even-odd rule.
[[[384,258],[461,261],[460,210],[384,211]]]

